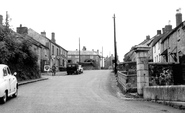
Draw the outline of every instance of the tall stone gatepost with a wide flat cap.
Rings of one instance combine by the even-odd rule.
[[[137,62],[137,93],[143,95],[143,87],[149,86],[148,51],[150,47],[138,45],[134,50]]]

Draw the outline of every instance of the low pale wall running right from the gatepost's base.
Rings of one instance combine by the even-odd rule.
[[[185,85],[147,86],[143,90],[143,97],[147,100],[185,102]]]

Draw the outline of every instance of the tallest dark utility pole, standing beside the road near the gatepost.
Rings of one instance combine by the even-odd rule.
[[[114,20],[114,54],[115,54],[115,68],[114,68],[114,72],[115,74],[117,74],[117,46],[116,46],[116,20],[115,20],[115,14],[113,16],[113,20]]]

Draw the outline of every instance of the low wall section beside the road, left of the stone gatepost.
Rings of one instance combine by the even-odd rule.
[[[124,92],[135,92],[137,90],[137,75],[126,75],[118,71],[118,83]]]

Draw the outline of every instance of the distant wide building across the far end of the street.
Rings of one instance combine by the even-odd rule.
[[[99,54],[99,50],[97,51],[88,51],[86,48],[80,51],[80,63],[92,63],[93,69],[101,68],[102,56]],[[68,63],[79,63],[79,50],[76,51],[68,51]]]

